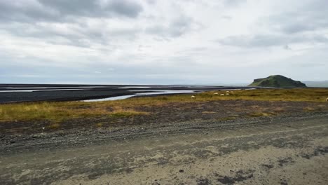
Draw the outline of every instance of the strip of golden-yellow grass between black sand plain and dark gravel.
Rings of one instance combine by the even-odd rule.
[[[214,93],[219,93],[219,95],[214,95]],[[53,123],[60,123],[68,118],[143,115],[149,113],[136,111],[135,108],[160,106],[172,102],[206,102],[219,100],[325,102],[328,97],[328,88],[230,90],[229,95],[220,96],[220,94],[226,94],[226,90],[195,93],[193,95],[196,96],[196,99],[191,99],[190,94],[184,94],[136,97],[105,102],[26,102],[0,104],[0,122],[46,120]]]

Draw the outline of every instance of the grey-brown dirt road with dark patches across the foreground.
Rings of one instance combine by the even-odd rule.
[[[214,123],[213,123],[214,124]],[[213,125],[212,124],[212,125]],[[1,184],[328,184],[328,114],[68,147],[1,145]],[[57,139],[54,137],[54,139]]]

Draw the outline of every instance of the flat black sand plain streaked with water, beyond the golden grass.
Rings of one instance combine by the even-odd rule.
[[[149,93],[152,90],[219,90],[249,87],[200,85],[47,85],[0,84],[0,103],[31,101],[92,100],[105,97]],[[34,92],[27,92],[34,90]],[[25,92],[19,92],[25,91]]]

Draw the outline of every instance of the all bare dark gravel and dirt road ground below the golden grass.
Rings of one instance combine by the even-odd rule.
[[[328,184],[325,102],[138,110],[151,114],[71,119],[57,130],[43,130],[42,121],[1,123],[1,184]]]

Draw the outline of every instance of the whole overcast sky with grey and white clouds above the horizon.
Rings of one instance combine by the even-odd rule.
[[[327,0],[0,0],[0,83],[328,80]]]

